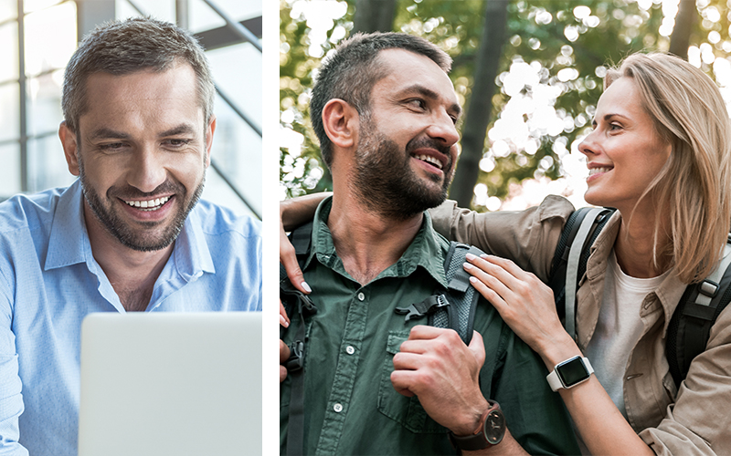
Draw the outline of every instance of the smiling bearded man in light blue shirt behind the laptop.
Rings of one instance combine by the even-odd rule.
[[[260,223],[198,202],[214,95],[196,40],[153,19],[71,57],[58,134],[79,180],[0,204],[0,454],[76,454],[91,312],[261,309]]]

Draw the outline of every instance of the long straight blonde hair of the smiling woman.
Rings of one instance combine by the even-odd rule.
[[[668,54],[634,54],[608,71],[604,88],[632,78],[670,159],[641,199],[657,203],[655,262],[672,255],[676,272],[690,284],[709,275],[720,259],[731,223],[731,123],[715,83],[703,71]],[[667,222],[665,222],[667,221]],[[667,223],[671,233],[661,233]],[[662,236],[672,244],[658,252]]]

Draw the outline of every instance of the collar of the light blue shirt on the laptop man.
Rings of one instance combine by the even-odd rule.
[[[175,240],[171,256],[175,258],[178,274],[185,280],[204,272],[216,272],[201,222],[194,208]],[[58,199],[48,240],[45,270],[86,263],[90,257],[91,244],[84,222],[83,192],[81,181],[77,180]]]

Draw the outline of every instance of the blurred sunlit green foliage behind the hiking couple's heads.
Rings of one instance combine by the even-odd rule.
[[[668,50],[671,36],[673,46],[682,35],[688,36],[689,45],[679,46],[690,50],[689,60],[715,77],[722,90],[731,92],[725,1],[681,0],[680,12],[659,0],[394,2],[393,30],[424,36],[454,60],[450,78],[468,111],[460,126],[458,172],[472,171],[472,177],[458,176],[452,196],[461,192],[466,195],[459,196],[461,202],[469,202],[476,183],[482,196],[472,203],[479,210],[484,209],[486,196],[504,200],[525,181],[552,181],[566,175],[563,165],[573,157],[570,150],[576,150],[578,140],[590,129],[606,68],[630,52]],[[308,127],[309,88],[320,59],[355,30],[354,21],[360,20],[357,9],[363,13],[384,4],[383,0],[327,2],[344,5],[342,15],[323,26],[324,32],[313,32],[316,21],[302,14],[302,4],[308,3],[281,1],[282,138],[299,135],[300,141],[297,147],[281,148],[282,196],[331,185]],[[491,26],[483,29],[488,24],[484,17],[495,19],[487,8],[496,5],[507,6],[506,40],[498,58],[486,58],[480,43]],[[683,31],[687,19],[690,32]],[[494,38],[490,44],[488,50],[498,48]],[[497,68],[494,76],[480,73],[486,72],[487,62]],[[458,186],[466,191],[458,191]]]

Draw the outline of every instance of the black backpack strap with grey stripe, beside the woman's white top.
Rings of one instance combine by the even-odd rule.
[[[554,292],[556,312],[567,333],[576,337],[576,294],[586,274],[588,256],[609,217],[616,209],[584,207],[567,220],[556,246],[548,285]]]

